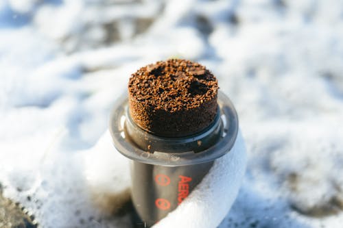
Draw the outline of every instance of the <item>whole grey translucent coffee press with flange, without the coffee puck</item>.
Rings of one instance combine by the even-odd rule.
[[[230,100],[218,93],[215,120],[201,132],[163,138],[141,129],[130,118],[123,95],[110,118],[115,147],[131,161],[135,227],[151,227],[178,207],[213,162],[228,153],[237,138],[238,118]]]

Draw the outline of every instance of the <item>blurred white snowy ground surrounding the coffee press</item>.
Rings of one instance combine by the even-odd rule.
[[[338,0],[0,1],[5,197],[42,227],[129,227],[95,199],[128,197],[125,162],[89,149],[130,73],[171,57],[213,71],[239,114],[248,170],[220,227],[342,227]]]

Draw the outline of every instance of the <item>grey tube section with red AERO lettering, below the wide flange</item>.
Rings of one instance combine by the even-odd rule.
[[[151,227],[175,210],[209,172],[212,164],[168,167],[133,161],[132,202],[139,217],[134,221],[136,227]]]

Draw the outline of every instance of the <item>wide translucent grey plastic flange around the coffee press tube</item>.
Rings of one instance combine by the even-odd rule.
[[[127,121],[126,110],[128,109],[128,94],[123,94],[119,97],[118,101],[113,107],[113,111],[110,114],[110,134],[113,138],[115,148],[122,155],[145,164],[155,164],[162,166],[187,166],[192,164],[200,164],[204,162],[212,162],[213,160],[222,157],[226,153],[230,152],[235,144],[235,140],[238,134],[238,116],[231,103],[230,99],[226,97],[223,92],[218,92],[218,106],[220,114],[220,125],[222,125],[223,131],[220,139],[217,140],[208,149],[203,151],[185,151],[182,153],[170,153],[163,151],[147,152],[128,140],[126,135],[125,123]],[[211,129],[209,129],[211,130]],[[204,134],[204,133],[200,133]],[[150,134],[147,133],[147,136]],[[153,136],[156,138],[156,136]],[[183,138],[171,138],[173,140],[195,140],[198,135],[187,136]],[[158,137],[157,137],[158,138]],[[169,140],[168,138],[161,138],[161,140]],[[169,142],[168,142],[169,143]]]

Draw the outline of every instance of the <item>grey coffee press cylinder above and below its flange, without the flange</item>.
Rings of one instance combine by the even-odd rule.
[[[220,125],[219,109],[213,123],[202,132],[193,134],[193,136],[174,138],[174,140],[147,133],[132,121],[130,112],[126,112],[126,115],[124,131],[128,140],[148,153],[202,151],[215,144],[223,131]],[[193,140],[188,140],[189,138]],[[194,140],[195,138],[199,138],[199,140]],[[196,188],[202,178],[209,173],[212,165],[213,161],[174,167],[132,161],[131,194],[137,213],[134,220],[135,226],[151,227],[167,216],[169,212],[175,210]]]

